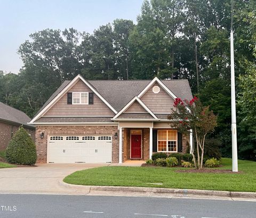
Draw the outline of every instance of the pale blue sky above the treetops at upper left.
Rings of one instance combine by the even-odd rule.
[[[143,0],[0,0],[0,70],[18,74],[17,53],[31,33],[75,28],[93,33],[119,19],[136,22]]]

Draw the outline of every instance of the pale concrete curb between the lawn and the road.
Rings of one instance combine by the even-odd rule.
[[[62,186],[68,188],[75,188],[88,190],[90,193],[99,192],[118,192],[118,193],[144,193],[147,195],[174,195],[183,197],[192,196],[215,196],[215,197],[227,197],[227,198],[248,198],[256,199],[256,192],[236,192],[236,191],[214,191],[214,190],[196,190],[196,189],[167,189],[167,188],[146,188],[146,187],[119,187],[119,186],[97,186],[97,185],[74,185],[68,184],[63,181],[60,182]]]

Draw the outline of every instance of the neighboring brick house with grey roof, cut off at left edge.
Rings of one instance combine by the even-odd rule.
[[[35,141],[35,127],[27,124],[30,120],[24,112],[0,102],[0,150],[6,149],[20,126],[23,126]]]

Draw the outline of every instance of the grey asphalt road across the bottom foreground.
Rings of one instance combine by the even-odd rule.
[[[150,197],[0,195],[8,218],[255,218],[256,202]]]

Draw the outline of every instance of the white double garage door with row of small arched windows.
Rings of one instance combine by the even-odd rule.
[[[111,162],[111,135],[50,135],[50,163]]]

